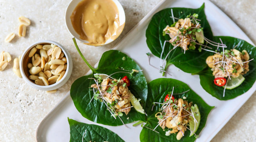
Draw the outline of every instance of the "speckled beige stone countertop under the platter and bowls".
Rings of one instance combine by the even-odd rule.
[[[79,43],[81,52],[90,64],[96,64],[103,52],[111,49],[161,0],[119,0],[126,14],[121,36],[104,47],[90,47]],[[210,0],[226,13],[256,43],[255,0]],[[64,22],[70,0],[0,0],[0,52],[6,51],[12,59],[18,57],[30,44],[41,40],[61,43],[73,59],[73,73],[64,86],[54,94],[37,90],[18,78],[12,71],[13,62],[0,72],[0,142],[35,142],[35,131],[41,120],[70,90],[77,78],[89,70],[76,51],[72,36]],[[18,31],[18,17],[31,20],[25,37],[17,35],[11,43],[4,39]],[[221,22],[221,21],[220,21]],[[212,139],[212,142],[256,141],[256,94],[238,110],[230,121]],[[68,141],[68,140],[67,140]]]

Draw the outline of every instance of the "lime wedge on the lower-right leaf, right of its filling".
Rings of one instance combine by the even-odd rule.
[[[201,119],[201,115],[200,115],[198,106],[196,104],[194,104],[194,106],[191,107],[191,110],[193,112],[194,117],[189,116],[189,118],[190,118],[190,120],[189,120],[190,135],[189,136],[193,136],[195,134],[195,132],[198,129],[198,126],[200,124],[200,119]]]

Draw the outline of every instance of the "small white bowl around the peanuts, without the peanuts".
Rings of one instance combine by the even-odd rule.
[[[67,70],[66,73],[64,74],[64,76],[61,78],[60,81],[58,81],[57,83],[48,85],[48,86],[42,86],[42,85],[38,85],[35,84],[35,82],[33,82],[32,80],[29,79],[29,72],[28,72],[28,55],[30,50],[36,46],[37,44],[55,44],[58,47],[61,48],[62,52],[64,53],[64,56],[67,58]],[[26,81],[27,84],[29,84],[30,86],[39,89],[39,90],[55,90],[58,89],[59,87],[61,87],[62,85],[64,85],[68,79],[70,78],[70,75],[72,73],[73,70],[73,62],[72,62],[72,58],[69,54],[69,52],[67,52],[67,50],[61,46],[61,44],[55,42],[55,41],[39,41],[36,43],[33,43],[32,45],[30,45],[22,54],[21,58],[20,58],[20,73],[22,78]]]

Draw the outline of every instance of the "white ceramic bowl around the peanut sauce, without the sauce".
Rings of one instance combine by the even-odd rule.
[[[73,26],[72,26],[72,23],[71,23],[71,19],[70,19],[70,16],[72,15],[72,12],[74,11],[74,9],[76,8],[76,6],[78,5],[79,2],[81,2],[82,0],[71,0],[71,2],[69,3],[69,5],[67,6],[67,9],[66,9],[66,13],[65,13],[65,22],[66,22],[66,26],[67,26],[67,29],[68,31],[70,32],[71,35],[73,35],[77,40],[81,41],[82,43],[89,43],[88,41],[85,41],[85,40],[82,40],[80,38],[80,35],[74,30]],[[118,0],[112,0],[116,6],[117,6],[117,9],[119,11],[119,25],[125,25],[125,11],[122,7],[122,5],[119,3]],[[122,29],[123,30],[123,29]],[[121,34],[121,32],[119,33],[119,35]],[[113,34],[113,35],[116,35],[116,32]],[[119,36],[115,36],[115,39]],[[111,43],[112,41],[114,41],[115,39],[108,39],[108,41],[106,41],[104,44],[101,44],[101,45],[97,45],[97,46],[102,46],[102,45],[105,45],[105,44],[108,44],[108,43]]]

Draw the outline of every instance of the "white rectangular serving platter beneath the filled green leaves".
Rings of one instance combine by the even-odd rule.
[[[186,7],[186,8],[199,8],[205,3],[205,14],[207,20],[212,28],[212,32],[215,36],[233,36],[235,38],[241,38],[250,44],[252,41],[244,34],[244,32],[224,14],[218,7],[212,4],[209,0],[163,0],[155,9],[148,13],[135,27],[132,29],[113,49],[118,49],[137,62],[143,69],[143,73],[147,81],[154,80],[156,78],[162,78],[162,74],[157,69],[148,65],[148,57],[146,55],[150,50],[146,44],[145,30],[148,26],[151,17],[154,13],[161,9],[170,7]],[[221,21],[221,23],[219,23]],[[82,60],[82,59],[81,59]],[[151,57],[151,64],[159,67],[160,59],[157,57]],[[201,96],[207,104],[215,106],[209,113],[207,123],[204,129],[201,131],[197,142],[209,142],[221,128],[229,121],[229,119],[239,110],[239,108],[250,98],[250,96],[256,90],[256,83],[246,93],[228,101],[220,101],[212,97],[207,93],[200,85],[200,79],[198,75],[191,75],[179,70],[174,65],[169,66],[169,72],[172,76],[167,75],[167,78],[174,78],[188,84],[192,90]],[[49,112],[49,114],[38,125],[36,131],[36,139],[38,142],[67,142],[70,140],[70,128],[67,121],[67,117],[75,119],[79,122],[87,124],[96,124],[85,119],[76,110],[73,101],[70,97],[70,93],[66,96]],[[140,142],[140,126],[133,127],[134,123],[128,124],[128,128],[125,126],[103,126],[117,133],[125,142]]]

